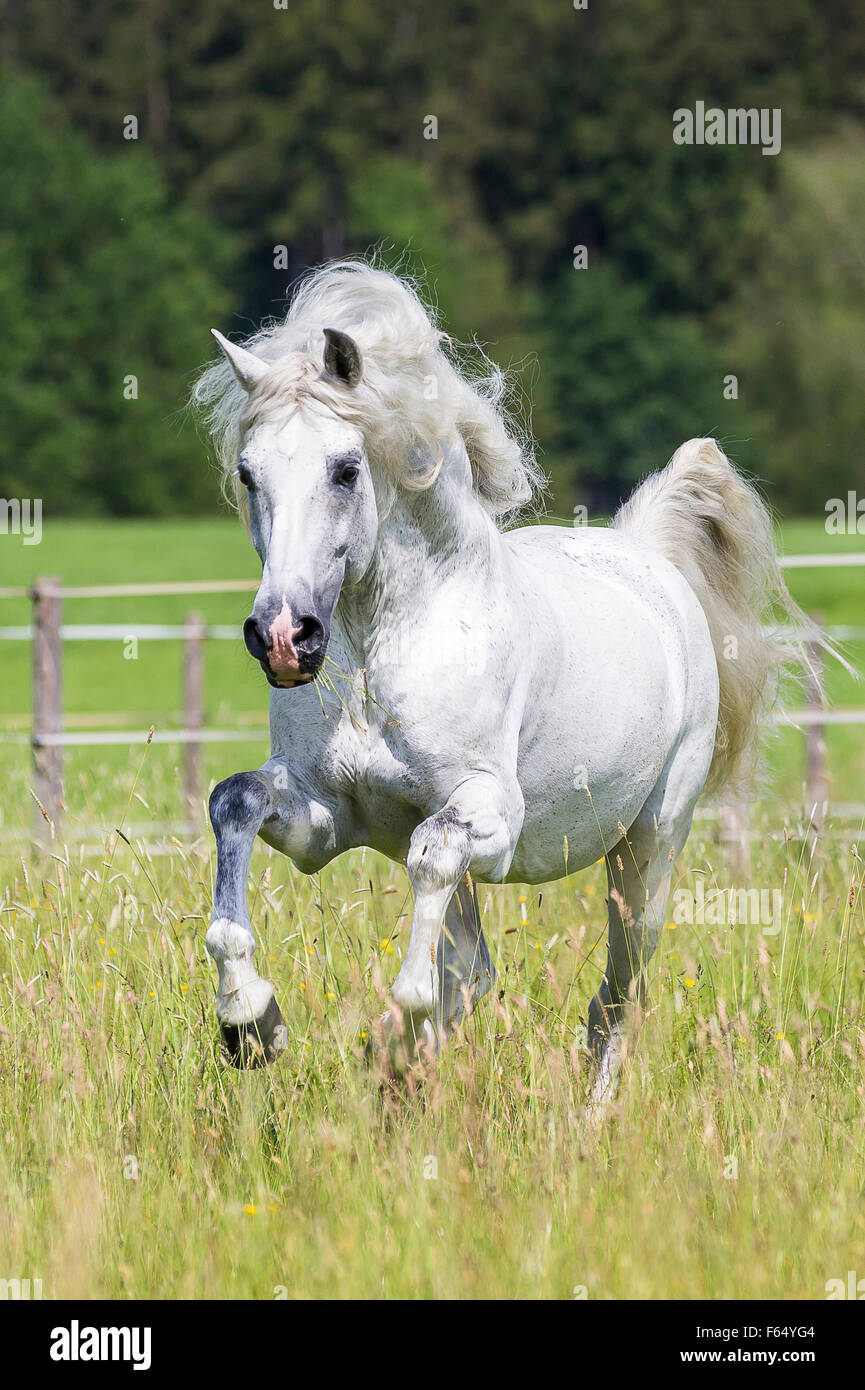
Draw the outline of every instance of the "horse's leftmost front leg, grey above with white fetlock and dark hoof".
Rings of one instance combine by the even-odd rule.
[[[218,970],[217,1017],[235,1066],[273,1062],[288,1040],[273,986],[261,980],[253,963],[256,941],[246,906],[252,847],[273,810],[271,778],[261,771],[228,777],[210,798],[217,880],[204,944]]]

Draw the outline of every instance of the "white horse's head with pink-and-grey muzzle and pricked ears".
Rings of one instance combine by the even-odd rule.
[[[250,395],[236,475],[263,573],[243,639],[271,685],[306,684],[324,662],[339,591],[362,578],[375,545],[363,435],[327,404],[328,389],[299,393],[286,410],[256,410],[256,402],[267,407],[271,364],[214,336]],[[306,371],[353,391],[363,370],[356,343],[330,328],[324,336],[321,368],[307,361]]]

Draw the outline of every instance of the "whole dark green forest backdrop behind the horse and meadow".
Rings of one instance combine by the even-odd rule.
[[[207,328],[377,245],[522,364],[552,510],[606,509],[713,431],[822,513],[855,486],[864,56],[854,0],[8,7],[0,57],[56,106],[4,83],[0,491],[207,505],[177,417]],[[697,100],[779,107],[782,153],[674,145]]]

